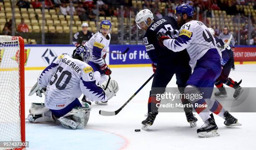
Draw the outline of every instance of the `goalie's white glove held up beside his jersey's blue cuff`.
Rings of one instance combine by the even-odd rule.
[[[104,81],[102,84],[100,84],[100,87],[103,89],[103,91],[105,92],[105,95],[108,97],[108,100],[109,100],[113,96],[115,96],[115,94],[119,90],[119,87],[118,87],[118,83],[115,80],[110,79],[110,82],[108,84],[108,88],[106,90],[104,90],[107,83],[108,83],[108,80]]]

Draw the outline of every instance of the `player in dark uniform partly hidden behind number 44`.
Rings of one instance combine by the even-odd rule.
[[[212,36],[214,36],[214,30],[212,28],[208,28]],[[224,42],[219,39],[218,37],[214,37],[216,44],[220,46],[224,46]],[[215,92],[215,97],[227,97],[227,92],[223,86],[223,84],[226,84],[227,86],[233,87],[235,89],[235,93],[233,94],[233,97],[235,99],[238,99],[239,95],[243,92],[242,87],[240,86],[241,81],[236,82],[233,79],[229,78],[229,73],[232,69],[232,66],[234,64],[234,54],[230,46],[227,46],[226,48],[220,49],[222,54],[222,60],[221,60],[221,66],[222,71],[218,79],[215,81],[215,86],[219,89],[218,92]]]

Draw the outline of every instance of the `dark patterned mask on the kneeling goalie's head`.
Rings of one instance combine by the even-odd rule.
[[[72,58],[88,63],[91,59],[90,50],[86,46],[77,46],[77,48],[73,51]]]

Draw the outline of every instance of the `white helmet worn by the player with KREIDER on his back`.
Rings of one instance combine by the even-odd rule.
[[[138,14],[136,15],[136,18],[135,18],[135,22],[139,29],[141,29],[141,27],[140,27],[140,25],[138,25],[138,23],[144,22],[148,26],[148,24],[147,24],[148,18],[150,18],[151,20],[154,19],[153,13],[150,10],[143,9],[140,12],[138,12]]]

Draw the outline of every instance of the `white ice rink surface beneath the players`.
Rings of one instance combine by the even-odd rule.
[[[232,113],[242,124],[241,127],[225,127],[224,120],[215,116],[220,137],[199,138],[197,127],[191,128],[184,113],[159,113],[150,130],[141,129],[146,117],[148,95],[152,80],[116,116],[100,116],[99,110],[115,111],[121,107],[153,73],[150,67],[112,68],[111,78],[120,87],[118,94],[107,106],[92,105],[90,119],[83,130],[68,130],[59,124],[31,124],[26,122],[28,150],[256,150],[256,113]],[[31,102],[44,102],[35,95],[28,97],[31,87],[41,71],[26,71],[26,116]],[[243,79],[242,87],[255,87],[256,64],[236,65],[230,77]],[[175,76],[168,84],[176,87]]]

